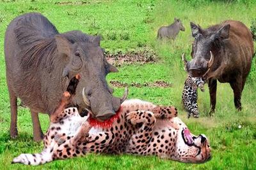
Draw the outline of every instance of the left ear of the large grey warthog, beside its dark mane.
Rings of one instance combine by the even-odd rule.
[[[56,39],[58,51],[60,53],[65,53],[66,55],[70,55],[72,43],[68,41],[67,38],[61,35],[56,35],[55,39]]]

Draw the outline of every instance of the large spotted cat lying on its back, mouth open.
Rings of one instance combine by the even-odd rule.
[[[22,153],[12,164],[40,165],[87,153],[155,155],[179,162],[202,163],[211,158],[209,139],[195,136],[177,117],[174,106],[126,99],[109,126],[92,125],[92,113],[69,106],[79,76],[75,76],[50,115],[41,153]]]

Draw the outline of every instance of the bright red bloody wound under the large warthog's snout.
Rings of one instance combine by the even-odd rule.
[[[103,122],[100,122],[99,120],[96,120],[95,118],[89,117],[88,122],[92,127],[101,127],[101,128],[109,128],[113,125],[113,122],[120,118],[122,108],[120,107],[118,111],[116,111],[116,114],[109,118],[108,120],[104,120]]]

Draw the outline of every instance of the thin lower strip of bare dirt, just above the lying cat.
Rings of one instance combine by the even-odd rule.
[[[163,81],[163,80],[157,80],[154,81],[153,83],[137,83],[137,82],[132,82],[130,84],[128,83],[124,83],[121,81],[115,81],[115,80],[111,80],[110,81],[111,85],[113,87],[162,87],[162,88],[167,88],[167,87],[172,87],[172,83]]]

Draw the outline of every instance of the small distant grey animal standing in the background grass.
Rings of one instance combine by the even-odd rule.
[[[168,38],[174,40],[180,31],[185,31],[185,28],[179,18],[174,18],[173,24],[159,28],[157,31],[157,38]]]

